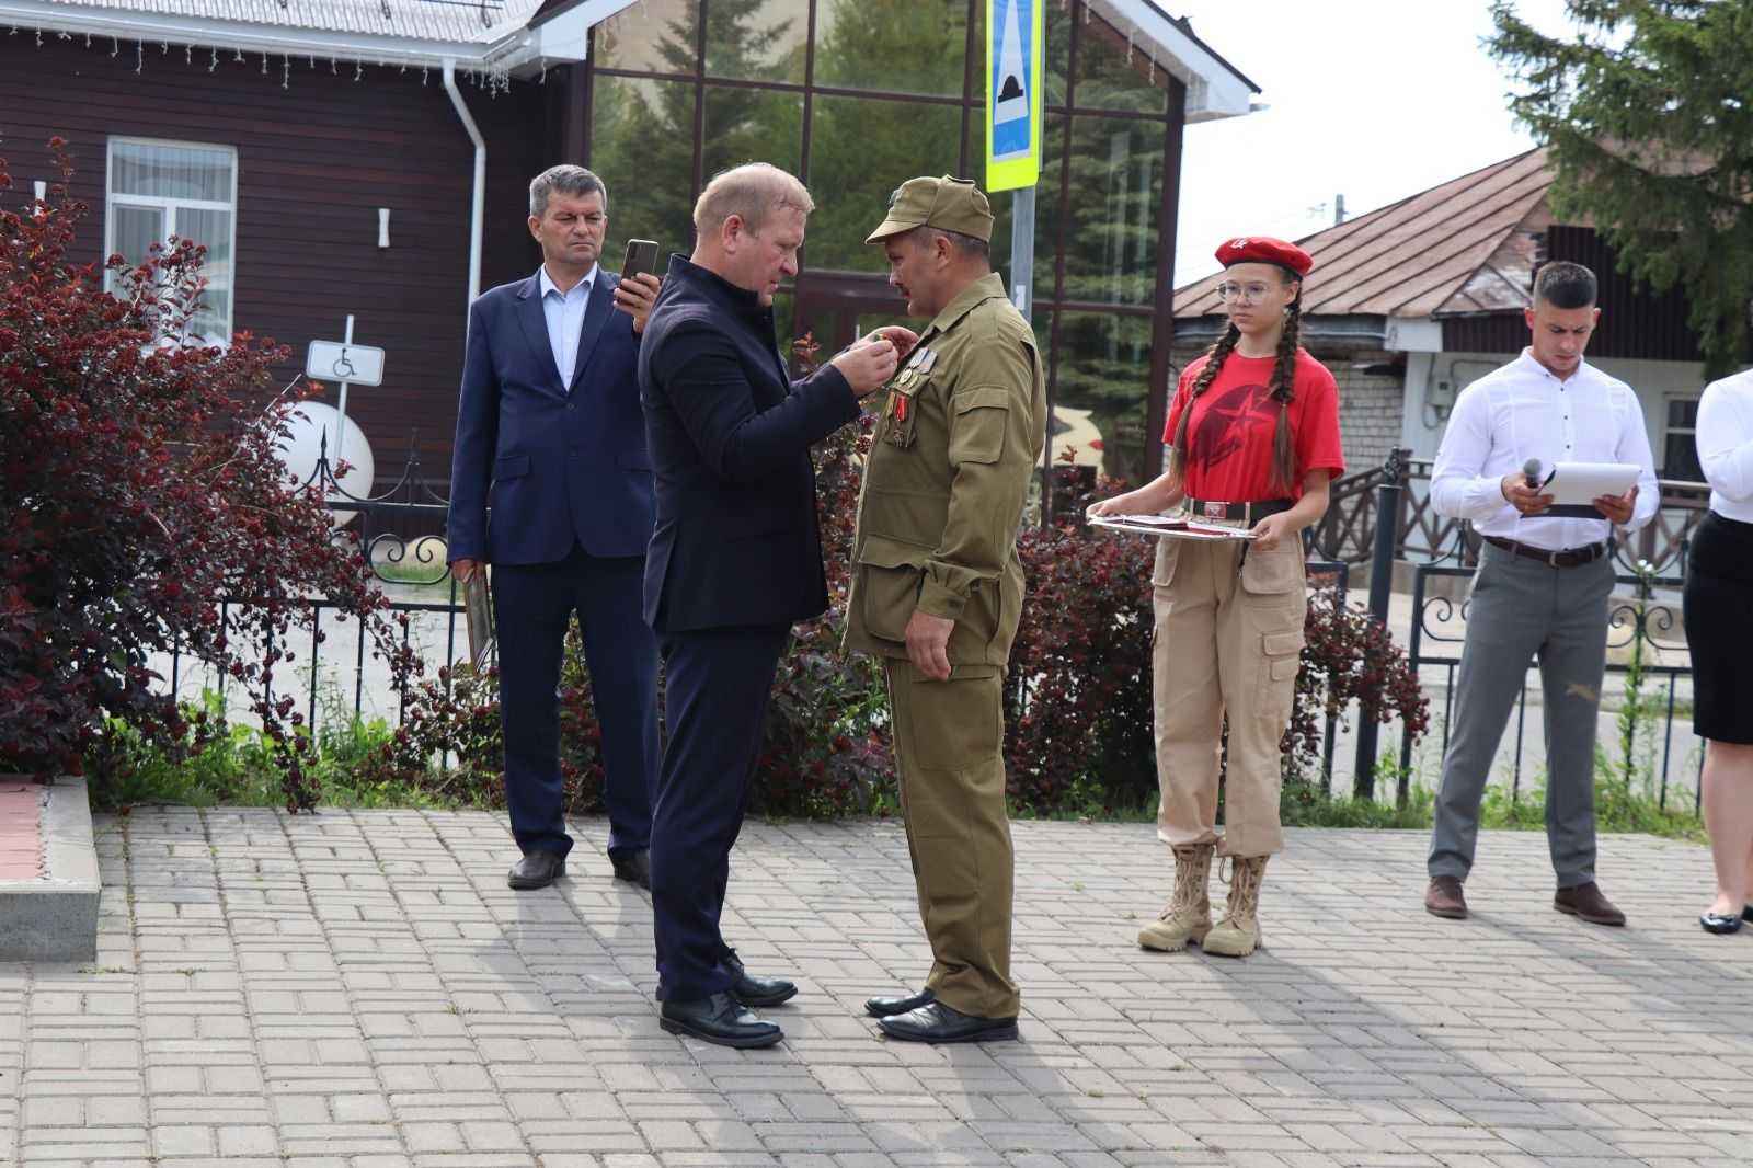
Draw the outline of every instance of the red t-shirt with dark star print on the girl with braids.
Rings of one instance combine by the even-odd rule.
[[[1189,498],[1220,503],[1257,503],[1283,498],[1273,491],[1273,437],[1278,431],[1278,402],[1267,384],[1278,358],[1245,358],[1231,353],[1224,368],[1194,402],[1187,419],[1187,482]],[[1182,384],[1169,405],[1169,424],[1164,442],[1175,442],[1187,396],[1199,377],[1206,358],[1199,358],[1182,374]],[[1302,498],[1302,477],[1311,470],[1329,470],[1338,479],[1345,474],[1345,451],[1339,444],[1339,388],[1327,367],[1304,349],[1297,349],[1294,379],[1295,400],[1290,403],[1290,449],[1295,452],[1297,474],[1290,498]]]

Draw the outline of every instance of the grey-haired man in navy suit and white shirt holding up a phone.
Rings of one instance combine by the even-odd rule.
[[[571,851],[556,686],[573,612],[608,773],[608,858],[619,879],[650,887],[657,642],[642,617],[652,475],[636,363],[659,284],[598,267],[607,230],[601,179],[542,172],[529,184],[542,267],[468,314],[449,559],[465,584],[493,565],[515,889],[566,875]]]

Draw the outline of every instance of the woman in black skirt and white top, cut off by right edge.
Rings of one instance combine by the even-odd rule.
[[[1753,919],[1753,370],[1706,388],[1697,431],[1711,510],[1692,535],[1685,610],[1716,863],[1716,900],[1699,924],[1734,933]]]

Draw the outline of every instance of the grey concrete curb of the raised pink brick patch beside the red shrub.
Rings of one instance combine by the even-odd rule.
[[[98,952],[98,854],[86,780],[58,775],[37,787],[35,875],[30,858],[0,873],[0,961],[95,961]],[[11,803],[25,800],[12,793]],[[12,842],[30,851],[32,833]]]

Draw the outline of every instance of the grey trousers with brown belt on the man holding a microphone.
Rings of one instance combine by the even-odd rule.
[[[1558,887],[1595,879],[1595,723],[1608,659],[1613,558],[1553,568],[1487,544],[1473,582],[1443,784],[1432,877],[1467,879],[1480,800],[1509,712],[1539,656],[1546,712],[1546,845]]]

